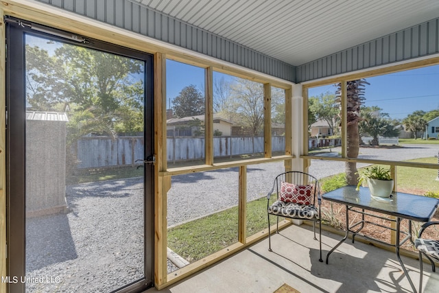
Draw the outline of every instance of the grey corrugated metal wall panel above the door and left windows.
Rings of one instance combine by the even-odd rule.
[[[128,0],[38,0],[207,56],[296,81],[296,68]],[[165,3],[159,1],[158,5]],[[190,12],[187,12],[190,13]],[[200,19],[201,21],[201,19]],[[206,21],[206,20],[204,20]]]

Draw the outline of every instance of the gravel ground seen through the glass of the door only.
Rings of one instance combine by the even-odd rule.
[[[67,215],[27,220],[29,292],[109,292],[143,276],[140,178],[66,187]]]

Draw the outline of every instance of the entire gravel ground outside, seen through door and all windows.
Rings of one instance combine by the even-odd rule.
[[[437,155],[436,145],[361,148],[361,158],[405,160]],[[333,154],[340,152],[333,148]],[[271,189],[283,162],[247,167],[247,199]],[[344,163],[313,160],[317,178],[344,172]],[[168,226],[238,203],[238,168],[173,176],[168,192]],[[52,283],[27,283],[29,292],[108,292],[143,275],[143,184],[141,178],[66,187],[69,213],[27,219],[26,277]],[[172,266],[169,263],[169,266]],[[175,268],[169,267],[172,271]]]

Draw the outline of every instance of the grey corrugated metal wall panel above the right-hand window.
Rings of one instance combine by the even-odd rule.
[[[439,53],[439,19],[337,52],[297,67],[297,82],[368,69]],[[314,66],[322,62],[322,67]],[[326,66],[325,66],[326,65]]]

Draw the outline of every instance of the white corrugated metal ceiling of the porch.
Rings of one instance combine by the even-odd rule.
[[[290,65],[435,19],[438,0],[130,0]]]

